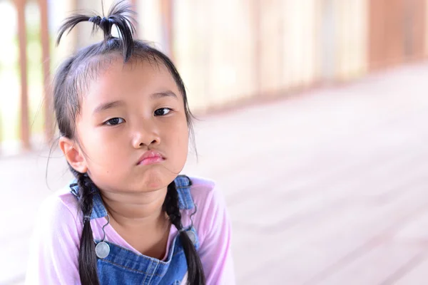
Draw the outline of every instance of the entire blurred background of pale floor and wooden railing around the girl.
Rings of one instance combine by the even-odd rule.
[[[188,88],[184,172],[225,195],[238,284],[427,284],[427,0],[131,2]],[[36,211],[71,178],[48,106],[101,39],[55,46],[78,9],[101,0],[0,0],[0,284],[24,283]]]

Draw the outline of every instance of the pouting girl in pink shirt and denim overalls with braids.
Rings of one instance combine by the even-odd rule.
[[[170,59],[132,38],[126,1],[75,15],[104,40],[54,80],[59,147],[76,180],[46,200],[27,284],[234,284],[230,221],[213,182],[178,175],[191,114]],[[118,28],[119,37],[111,35]]]

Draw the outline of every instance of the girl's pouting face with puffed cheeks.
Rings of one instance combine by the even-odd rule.
[[[188,154],[183,96],[161,63],[123,66],[118,58],[108,65],[83,95],[76,130],[82,160],[78,167],[86,167],[105,191],[166,187],[183,169]],[[161,152],[164,160],[138,165],[147,150]]]

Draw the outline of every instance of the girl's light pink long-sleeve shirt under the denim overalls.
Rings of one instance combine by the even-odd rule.
[[[198,211],[193,224],[198,232],[198,254],[203,264],[207,284],[235,284],[230,249],[230,220],[225,201],[209,180],[191,178],[190,193]],[[192,210],[182,211],[183,226],[190,225]],[[94,239],[102,239],[104,217],[91,219]],[[56,192],[42,204],[31,239],[26,284],[81,284],[78,274],[78,249],[83,229],[78,201],[68,187]],[[106,240],[140,254],[116,231],[105,227]],[[167,253],[177,234],[170,228]],[[185,280],[183,280],[184,284]]]

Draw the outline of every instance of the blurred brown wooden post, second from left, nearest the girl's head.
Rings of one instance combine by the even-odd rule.
[[[40,10],[40,34],[41,34],[41,62],[43,68],[43,86],[44,86],[44,132],[46,142],[54,137],[52,93],[51,93],[51,74],[50,74],[50,56],[49,56],[49,15],[47,0],[39,0]]]

